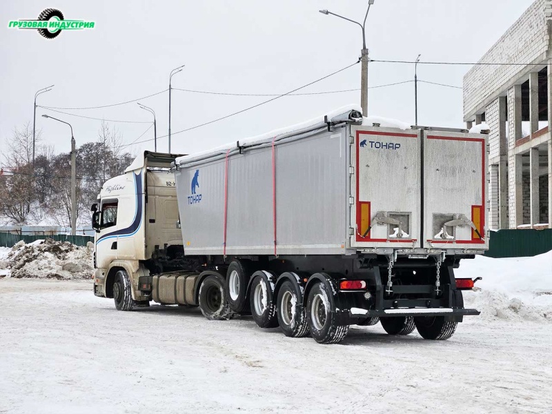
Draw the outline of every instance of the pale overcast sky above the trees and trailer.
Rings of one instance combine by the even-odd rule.
[[[102,106],[168,88],[229,93],[284,93],[357,61],[358,26],[325,9],[362,21],[367,0],[236,1],[6,1],[0,3],[0,150],[15,127],[32,124],[34,93],[55,84],[38,103],[55,107]],[[531,0],[375,0],[366,23],[372,59],[477,61],[531,5]],[[45,39],[35,30],[8,28],[12,19],[36,19],[55,7],[66,19],[96,22],[94,30],[64,31]],[[418,66],[418,79],[462,86],[470,66]],[[368,86],[413,79],[413,65],[371,63]],[[301,92],[359,88],[360,65]],[[462,127],[462,90],[419,83],[421,125]],[[368,92],[369,115],[414,123],[414,85]],[[172,132],[228,115],[266,97],[230,97],[172,91]],[[282,97],[215,124],[172,136],[172,152],[191,153],[268,132],[359,103],[360,92]],[[141,101],[157,113],[157,135],[168,132],[168,92]],[[63,110],[87,117],[150,121],[136,103],[95,110]],[[37,108],[37,130],[56,152],[97,139],[100,121]],[[148,124],[116,125],[124,143]],[[139,139],[153,138],[153,128]],[[152,141],[130,147],[153,149]],[[158,141],[167,150],[167,138]]]

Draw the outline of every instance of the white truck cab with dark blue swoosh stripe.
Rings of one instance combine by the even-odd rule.
[[[98,202],[92,205],[95,295],[113,297],[115,275],[125,270],[132,299],[145,301],[138,281],[149,274],[148,265],[162,266],[164,258],[183,252],[175,177],[170,172],[175,157],[145,151],[124,175],[101,187]]]

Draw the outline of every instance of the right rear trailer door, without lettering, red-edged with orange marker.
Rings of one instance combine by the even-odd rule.
[[[426,248],[488,248],[486,135],[424,131]]]

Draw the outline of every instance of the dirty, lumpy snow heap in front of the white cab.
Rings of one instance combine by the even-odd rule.
[[[86,247],[52,239],[19,242],[8,252],[6,248],[0,251],[0,277],[90,279],[93,248],[90,242]]]

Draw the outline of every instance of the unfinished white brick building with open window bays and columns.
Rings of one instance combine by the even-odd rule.
[[[536,0],[477,63],[464,121],[491,130],[490,227],[552,228],[552,0]]]

